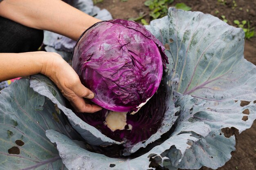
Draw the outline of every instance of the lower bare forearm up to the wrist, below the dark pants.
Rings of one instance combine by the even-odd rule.
[[[41,73],[48,60],[46,52],[0,53],[0,82]]]

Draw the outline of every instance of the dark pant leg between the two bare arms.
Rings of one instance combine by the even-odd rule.
[[[42,43],[43,30],[0,17],[0,53],[37,51]]]

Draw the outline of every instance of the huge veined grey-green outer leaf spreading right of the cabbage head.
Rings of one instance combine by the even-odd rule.
[[[235,149],[235,138],[226,138],[221,129],[235,127],[242,132],[256,119],[256,66],[243,57],[243,30],[209,14],[174,8],[169,9],[168,16],[152,21],[146,28],[170,47],[165,52],[168,67],[174,68],[180,78],[177,92],[205,103],[191,121],[204,121],[211,127],[207,137],[193,135],[200,140],[186,150],[175,166],[223,166]],[[243,100],[249,101],[249,105],[240,106]],[[178,104],[182,107],[188,103]],[[242,113],[246,109],[249,115]],[[247,121],[242,120],[244,116]]]

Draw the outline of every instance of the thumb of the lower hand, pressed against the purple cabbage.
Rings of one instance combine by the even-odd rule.
[[[88,99],[92,99],[94,97],[94,94],[92,93],[92,91],[90,91],[88,88],[83,86],[83,84],[81,84],[80,81],[79,83],[76,84],[76,86],[73,86],[71,90],[74,91],[74,93],[79,97],[85,97]]]

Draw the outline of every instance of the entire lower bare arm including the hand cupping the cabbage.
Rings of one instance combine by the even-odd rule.
[[[94,94],[81,84],[73,68],[57,53],[0,53],[0,63],[0,82],[41,73],[52,79],[76,111],[94,113],[101,110],[100,106],[85,102],[83,97],[92,99]]]

